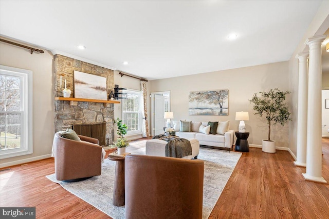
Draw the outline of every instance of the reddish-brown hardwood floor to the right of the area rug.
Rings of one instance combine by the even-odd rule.
[[[329,182],[329,138],[322,138]],[[209,218],[329,218],[329,185],[308,182],[287,151],[243,153]]]

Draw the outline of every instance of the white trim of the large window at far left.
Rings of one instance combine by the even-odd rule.
[[[33,117],[32,117],[32,101],[33,101],[33,73],[30,70],[13,68],[8,66],[0,65],[0,73],[5,75],[19,76],[23,78],[23,83],[21,84],[21,95],[22,100],[22,118],[21,118],[21,147],[13,148],[8,150],[0,151],[0,160],[14,157],[22,156],[26,154],[33,153]]]

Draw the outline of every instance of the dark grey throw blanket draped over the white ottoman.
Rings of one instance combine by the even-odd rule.
[[[161,137],[165,137],[165,135],[156,135],[152,139]],[[189,155],[192,155],[192,146],[190,141],[185,138],[170,140],[166,145],[166,156],[181,158]]]

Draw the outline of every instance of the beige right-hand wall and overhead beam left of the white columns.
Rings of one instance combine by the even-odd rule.
[[[319,10],[308,26],[305,34],[301,38],[295,52],[289,60],[289,89],[292,92],[290,96],[290,111],[293,115],[293,122],[289,126],[289,149],[296,156],[297,150],[297,105],[298,105],[298,59],[295,56],[300,52],[308,51],[305,46],[307,38],[322,35],[329,26],[329,1],[323,1]]]

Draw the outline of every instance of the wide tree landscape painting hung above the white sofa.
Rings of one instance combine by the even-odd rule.
[[[190,92],[189,115],[228,115],[228,90]]]

